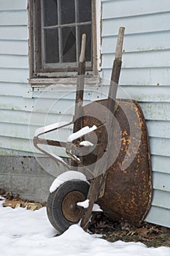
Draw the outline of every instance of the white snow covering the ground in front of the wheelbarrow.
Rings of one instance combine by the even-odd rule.
[[[142,243],[109,243],[72,225],[61,236],[47,220],[46,209],[28,211],[2,207],[0,201],[0,255],[3,256],[169,256],[169,247],[147,248]]]

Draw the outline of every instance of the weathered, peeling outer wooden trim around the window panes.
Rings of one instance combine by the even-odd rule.
[[[34,25],[34,18],[35,18],[35,11],[39,10],[33,10],[34,7],[34,1],[38,2],[40,0],[28,0],[28,14],[29,14],[29,65],[30,65],[30,80],[29,82],[33,86],[40,86],[40,80],[42,80],[43,84],[49,84],[52,80],[58,81],[58,78],[64,79],[64,78],[75,78],[77,75],[77,69],[73,67],[69,67],[69,71],[66,72],[65,69],[39,69],[37,67],[40,67],[41,64],[41,54],[39,54],[39,59],[35,59],[35,50],[37,50],[36,46],[36,40],[35,40],[35,30],[39,28],[35,28]],[[93,70],[91,70],[91,67],[88,67],[88,64],[86,65],[86,72],[88,73],[87,79],[96,81],[96,75],[98,75],[98,56],[97,56],[97,31],[96,31],[96,1],[98,0],[92,0],[92,47],[93,47]],[[38,6],[38,5],[37,5]],[[36,18],[38,18],[39,15],[36,15]],[[39,22],[36,22],[36,24],[39,24]],[[34,71],[36,69],[36,72]],[[38,83],[36,82],[38,81]]]

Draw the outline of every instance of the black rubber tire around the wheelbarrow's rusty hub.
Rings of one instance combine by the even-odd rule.
[[[75,213],[73,210],[70,210],[73,211],[73,214],[75,214],[75,216],[73,217],[75,217],[75,219],[78,219],[77,221],[70,220],[72,219],[72,216],[70,217],[70,219],[66,219],[63,214],[63,202],[66,201],[66,196],[68,197],[68,195],[78,194],[80,195],[80,197],[82,197],[83,200],[85,200],[88,195],[88,189],[89,184],[87,182],[72,180],[64,182],[63,184],[61,184],[60,187],[58,187],[58,189],[55,190],[55,192],[50,193],[47,199],[47,217],[50,220],[51,225],[53,225],[53,227],[55,227],[55,229],[58,230],[60,233],[66,231],[69,226],[79,222],[81,219],[81,217],[79,217],[80,214],[82,216],[82,212],[80,212],[80,210],[76,209]]]

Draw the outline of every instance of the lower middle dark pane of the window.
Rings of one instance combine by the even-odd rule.
[[[62,29],[63,62],[76,61],[76,34],[74,27]]]

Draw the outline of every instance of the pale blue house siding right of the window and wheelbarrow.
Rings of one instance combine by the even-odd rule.
[[[118,28],[125,26],[120,86],[147,121],[154,190],[146,220],[170,227],[170,3],[102,0],[102,10],[102,76],[110,77]]]

